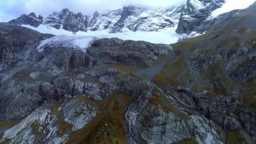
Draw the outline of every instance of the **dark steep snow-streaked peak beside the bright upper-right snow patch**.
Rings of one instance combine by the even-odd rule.
[[[190,32],[205,32],[204,21],[211,12],[220,8],[225,0],[187,0],[183,7],[176,32],[189,34]]]

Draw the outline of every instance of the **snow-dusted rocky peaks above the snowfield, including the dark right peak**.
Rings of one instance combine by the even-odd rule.
[[[152,32],[178,25],[176,32],[179,34],[189,34],[192,31],[203,33],[208,30],[201,29],[203,21],[211,15],[211,12],[220,8],[223,3],[224,0],[187,0],[185,5],[156,9],[124,6],[105,13],[96,11],[90,16],[73,13],[64,8],[61,12],[53,12],[45,18],[43,24],[70,32],[100,30],[109,33]],[[9,23],[15,24],[12,21]],[[30,23],[29,21],[24,21],[24,23],[19,21],[17,24]],[[34,24],[30,25],[34,26]]]

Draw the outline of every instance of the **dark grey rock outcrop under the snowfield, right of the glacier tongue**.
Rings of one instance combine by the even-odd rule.
[[[96,40],[92,46],[87,50],[88,54],[104,64],[131,64],[139,67],[151,66],[157,56],[167,55],[172,49],[171,45],[123,41],[117,38]]]

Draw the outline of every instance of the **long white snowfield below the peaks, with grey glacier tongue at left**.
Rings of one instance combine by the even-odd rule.
[[[50,47],[70,47],[75,48],[80,51],[86,52],[86,48],[91,46],[94,40],[101,38],[112,38],[117,37],[122,40],[143,40],[150,43],[162,43],[162,44],[171,44],[176,43],[179,38],[195,37],[199,34],[192,32],[189,35],[182,34],[179,35],[175,32],[177,27],[169,27],[161,29],[157,32],[119,32],[119,33],[108,33],[107,31],[88,31],[88,32],[69,32],[64,29],[55,29],[45,24],[41,24],[39,27],[32,27],[30,25],[21,25],[22,27],[27,27],[34,29],[41,33],[48,33],[56,35],[47,40],[43,40],[40,45],[37,47],[39,51],[43,51],[43,48]]]

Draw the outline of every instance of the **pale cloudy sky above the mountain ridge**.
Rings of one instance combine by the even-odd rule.
[[[77,13],[91,14],[94,11],[107,11],[121,8],[122,5],[163,7],[186,3],[187,0],[0,0],[0,21],[5,22],[19,17],[22,13],[35,12],[47,17],[62,8]]]

